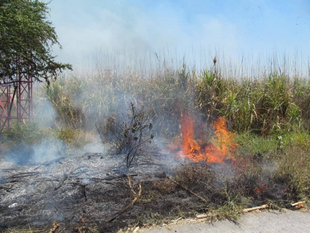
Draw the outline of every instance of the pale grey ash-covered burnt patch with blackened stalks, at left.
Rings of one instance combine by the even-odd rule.
[[[152,158],[150,163],[138,161],[129,170],[133,190],[138,192],[142,184],[142,197],[146,186],[154,186],[172,168],[172,159],[163,160],[156,152]],[[0,161],[0,229],[29,226],[48,232],[56,221],[60,227],[55,232],[71,232],[80,226],[115,232],[137,223],[138,216],[149,213],[145,202],[138,201],[115,221],[106,222],[134,199],[126,174],[124,156],[103,153],[36,165]],[[165,200],[155,205],[166,209]]]

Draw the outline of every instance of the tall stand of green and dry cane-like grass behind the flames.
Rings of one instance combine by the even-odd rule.
[[[165,57],[156,60],[155,67],[143,72],[96,67],[92,73],[62,77],[51,84],[47,99],[59,121],[83,129],[126,112],[130,102],[147,107],[163,136],[177,131],[181,115],[197,110],[209,121],[227,117],[238,132],[272,134],[308,127],[309,80],[299,64],[279,54],[243,59],[234,66],[218,57],[215,66],[210,61],[202,70],[189,68],[185,60],[180,65]]]

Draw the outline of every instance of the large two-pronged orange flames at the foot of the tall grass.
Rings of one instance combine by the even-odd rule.
[[[226,119],[218,117],[212,125],[214,136],[212,143],[202,143],[195,140],[194,121],[191,116],[181,118],[181,154],[193,162],[208,160],[209,163],[223,163],[224,160],[234,159],[233,152],[235,144],[233,143],[232,133],[230,133],[225,124]]]

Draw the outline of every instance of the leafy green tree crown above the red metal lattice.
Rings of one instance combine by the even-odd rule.
[[[50,81],[69,64],[55,62],[52,46],[61,45],[52,23],[47,20],[48,3],[38,0],[0,0],[0,83],[18,74],[35,81]]]

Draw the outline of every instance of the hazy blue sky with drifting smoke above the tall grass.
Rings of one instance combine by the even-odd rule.
[[[310,56],[309,0],[52,0],[49,7],[62,62],[124,48],[192,57],[202,49],[232,58],[273,50]]]

